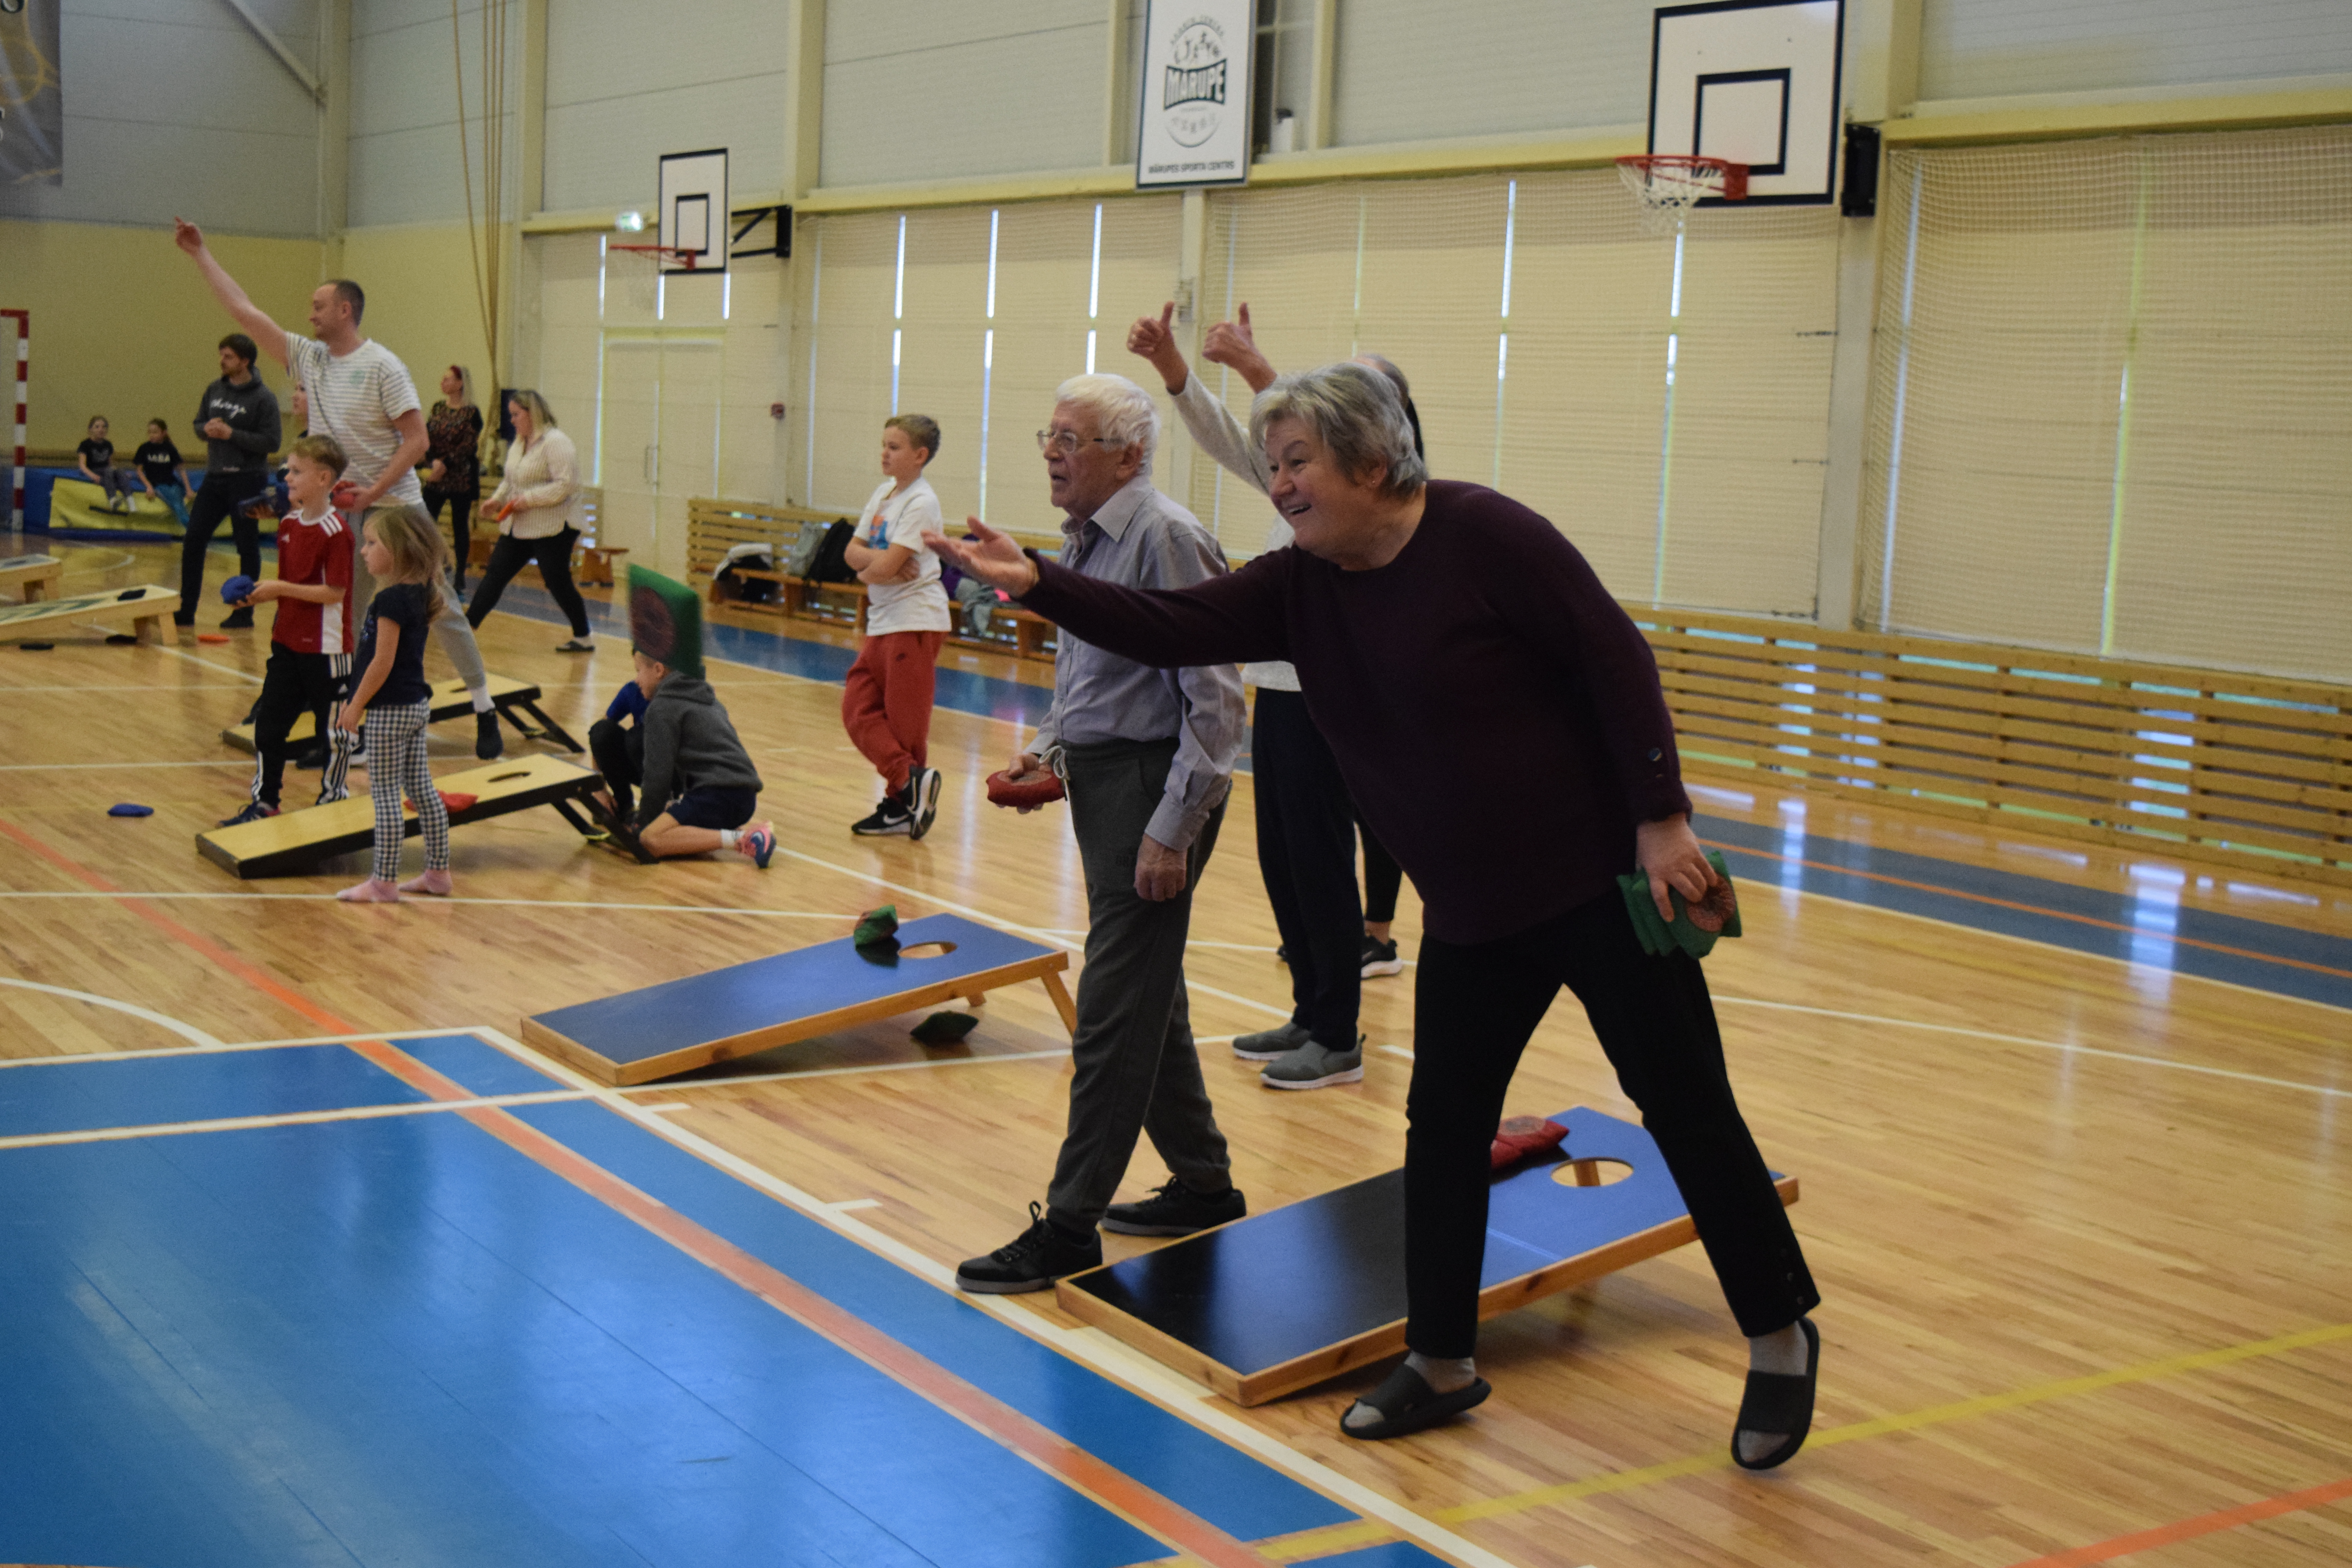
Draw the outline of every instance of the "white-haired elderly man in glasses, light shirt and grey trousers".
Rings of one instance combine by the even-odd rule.
[[[1209,531],[1152,489],[1150,393],[1124,376],[1073,376],[1054,397],[1037,447],[1063,512],[1061,562],[1122,588],[1223,576]],[[1030,1204],[1025,1232],[957,1267],[964,1291],[1042,1291],[1091,1269],[1103,1260],[1096,1227],[1183,1237],[1244,1213],[1192,1046],[1183,947],[1247,722],[1235,665],[1152,670],[1061,637],[1054,705],[1011,773],[1061,773],[1087,872],[1070,1124],[1044,1208]],[[1141,1133],[1169,1182],[1112,1204]]]

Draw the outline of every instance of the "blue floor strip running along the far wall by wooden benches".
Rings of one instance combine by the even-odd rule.
[[[499,602],[499,609],[515,609],[517,614],[550,625],[562,623],[562,614],[555,609],[555,602],[546,597],[546,590],[536,588],[510,588],[508,597]],[[588,614],[590,618],[597,618],[604,635],[628,637],[626,616],[614,616],[609,607],[600,604],[590,604]],[[800,642],[781,632],[736,625],[706,628],[706,637],[710,651],[722,658],[823,682],[842,679],[849,672],[849,661],[854,658],[849,649]],[[1044,717],[1051,701],[1054,693],[1047,686],[1023,686],[1018,682],[974,675],[969,670],[938,672],[936,703],[957,712],[1016,719],[1035,726],[1037,719]],[[1242,759],[1242,771],[1249,771],[1247,755]],[[2352,1006],[2352,940],[2345,938],[2319,936],[2298,926],[2237,914],[2183,910],[2178,903],[2166,903],[2152,891],[2138,898],[2124,893],[2098,893],[2009,870],[1962,865],[1957,860],[1938,860],[1891,849],[1872,849],[1867,844],[1849,844],[1844,839],[1788,835],[1778,827],[1759,823],[1736,823],[1708,816],[1698,820],[1698,830],[1717,844],[1731,844],[1757,853],[1792,853],[1811,860],[1828,860],[1837,867],[1875,870],[1891,877],[1905,877],[1907,882],[1926,882],[1936,889],[1950,889],[1955,893],[2004,898],[2009,903],[2034,905],[2037,910],[2051,910],[2058,914],[2091,914],[2093,919],[2131,926],[2131,931],[2098,931],[2077,922],[2053,919],[2051,914],[2034,917],[2030,912],[2002,910],[1971,898],[1938,898],[1936,893],[1893,889],[1886,884],[1872,884],[1863,877],[1839,875],[1837,870],[1797,867],[1780,860],[1736,863],[1733,870],[1740,877],[1769,879],[1809,893],[1846,898],[1851,903],[1929,914],[1973,931],[2023,936],[2053,947],[2067,947],[2070,952],[2124,957],[2136,964],[2154,964],[2187,976],[2230,980],[2234,985],[2249,985],[2281,997],[2300,997],[2305,1001],[2324,1001],[2328,1006]],[[2161,844],[2150,844],[2150,853],[2161,856],[2166,851]],[[2239,959],[2232,954],[2187,947],[2171,940],[2173,936],[2194,936],[2225,947],[2246,947],[2258,954],[2267,952],[2303,959],[2307,964],[2326,964],[2328,969],[2345,971],[2345,976],[2317,976],[2291,964],[2265,964],[2260,959]]]

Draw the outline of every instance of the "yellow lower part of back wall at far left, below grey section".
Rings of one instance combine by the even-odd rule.
[[[318,240],[216,235],[214,254],[280,322],[301,324],[320,280]],[[172,421],[191,458],[195,400],[221,374],[214,346],[235,322],[198,270],[155,228],[0,219],[0,306],[33,310],[31,430],[40,454],[71,454],[92,414],[113,421],[115,447],[143,440],[148,418]],[[285,397],[285,369],[263,360]]]

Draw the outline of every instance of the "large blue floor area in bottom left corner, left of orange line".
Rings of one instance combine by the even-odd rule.
[[[9,1150],[0,1180],[14,1561],[1167,1556],[461,1117]]]

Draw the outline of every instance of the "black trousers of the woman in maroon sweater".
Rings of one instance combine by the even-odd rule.
[[[1625,900],[1609,889],[1491,943],[1421,943],[1404,1135],[1404,1342],[1425,1356],[1477,1347],[1489,1145],[1519,1053],[1562,985],[1585,1004],[1618,1084],[1642,1107],[1740,1333],[1776,1333],[1818,1307],[1797,1232],[1731,1098],[1698,959],[1642,952]]]

